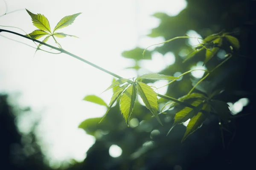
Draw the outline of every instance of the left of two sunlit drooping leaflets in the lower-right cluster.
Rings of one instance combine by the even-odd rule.
[[[175,127],[175,125],[184,123],[188,119],[191,119],[193,116],[195,116],[203,107],[203,100],[196,100],[195,102],[192,102],[192,105],[196,107],[194,109],[186,107],[176,113],[174,117],[174,123],[169,132],[167,133],[167,135],[170,133],[172,128]]]

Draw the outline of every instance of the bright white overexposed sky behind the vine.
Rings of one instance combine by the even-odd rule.
[[[66,37],[58,42],[65,50],[125,78],[136,77],[137,73],[124,69],[134,62],[121,57],[122,51],[164,41],[163,37],[145,36],[159,24],[151,15],[165,12],[173,16],[186,7],[185,0],[6,0],[6,3],[7,12],[27,8],[32,13],[44,14],[51,28],[62,17],[82,12],[71,26],[59,30],[80,39]],[[4,12],[5,6],[0,0],[0,13]],[[22,28],[27,33],[37,29],[25,10],[0,17],[0,25]],[[15,28],[1,28],[24,34]],[[22,37],[0,34],[35,46]],[[53,41],[48,43],[55,45]],[[37,137],[51,164],[84,160],[95,139],[78,125],[84,119],[103,116],[106,108],[82,99],[95,94],[108,103],[112,91],[101,93],[111,85],[113,77],[66,54],[38,51],[33,57],[35,49],[4,37],[0,37],[0,47],[0,92],[19,92],[21,95],[16,99],[19,104],[32,108],[31,113],[18,119],[19,130],[28,133],[32,123],[40,117]],[[172,53],[165,56],[155,53],[153,60],[142,66],[157,72],[165,68],[167,62],[173,64],[173,59]]]

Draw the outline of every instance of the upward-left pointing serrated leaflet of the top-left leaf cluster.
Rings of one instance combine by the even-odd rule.
[[[33,14],[32,12],[30,12],[27,9],[26,9],[26,11],[29,13],[30,17],[32,18],[32,23],[34,26],[36,26],[37,28],[39,28],[43,31],[47,31],[47,32],[51,33],[49,21],[46,17],[44,17],[44,15]]]

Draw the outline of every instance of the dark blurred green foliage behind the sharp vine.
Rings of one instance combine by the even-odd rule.
[[[156,2],[157,3],[157,2]],[[240,41],[241,48],[236,51],[228,62],[210,74],[195,92],[202,93],[204,89],[224,88],[225,91],[216,99],[235,103],[247,98],[248,105],[233,116],[225,126],[219,125],[218,117],[211,115],[203,126],[190,135],[185,142],[180,143],[186,127],[177,125],[166,136],[172,127],[175,113],[179,107],[160,114],[161,126],[150,111],[136,102],[127,127],[115,105],[108,115],[101,118],[87,119],[79,126],[86,133],[96,138],[95,144],[87,151],[84,162],[70,164],[69,170],[222,170],[246,169],[254,165],[255,154],[255,113],[254,103],[256,88],[254,84],[254,45],[256,19],[255,3],[249,0],[187,0],[187,7],[177,16],[156,13],[154,17],[160,20],[160,25],[152,29],[149,37],[164,37],[165,40],[184,36],[188,31],[196,31],[203,38],[222,30],[234,32],[233,36]],[[149,44],[150,45],[150,44]],[[137,47],[124,51],[123,57],[135,61],[133,67],[139,71],[140,61],[151,59],[154,51],[160,54],[172,52],[175,64],[163,68],[159,74],[175,75],[191,70],[199,61],[204,61],[205,50],[196,54],[188,62],[182,63],[186,54],[192,51],[187,39],[178,39],[156,48],[149,48],[142,58],[143,48]],[[152,50],[154,49],[154,51]],[[223,55],[217,54],[207,64],[211,70],[223,60]],[[178,98],[189,92],[199,79],[191,74],[182,77],[169,85],[167,96]],[[148,81],[149,82],[149,81]],[[0,169],[14,170],[48,170],[40,147],[33,135],[21,135],[15,127],[15,114],[26,112],[23,109],[13,109],[8,103],[7,95],[0,96]],[[163,106],[166,99],[160,99]],[[232,110],[232,108],[230,107]],[[113,158],[109,148],[117,145],[122,154]],[[63,168],[64,169],[64,168]]]

